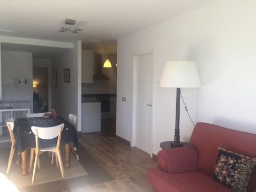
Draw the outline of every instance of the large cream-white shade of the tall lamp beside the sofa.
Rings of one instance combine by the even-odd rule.
[[[159,87],[200,88],[197,64],[193,61],[166,62],[159,81]]]

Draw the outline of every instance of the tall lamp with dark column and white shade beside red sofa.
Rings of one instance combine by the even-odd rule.
[[[183,146],[180,143],[180,89],[200,88],[197,64],[193,61],[169,61],[166,62],[159,81],[159,87],[176,88],[176,121],[174,142],[171,148]]]

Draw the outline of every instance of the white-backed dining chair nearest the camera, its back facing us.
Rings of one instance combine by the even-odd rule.
[[[64,127],[63,123],[60,125],[57,125],[57,126],[52,126],[52,127],[37,127],[37,126],[31,127],[32,132],[35,134],[35,144],[36,144],[36,147],[33,150],[33,152],[35,152],[35,161],[34,161],[34,169],[33,169],[33,175],[32,175],[32,184],[34,183],[34,179],[35,179],[35,170],[36,170],[37,159],[38,159],[39,155],[44,152],[52,152],[57,155],[56,158],[58,159],[61,176],[62,176],[62,178],[65,177],[62,160],[61,160],[61,155],[60,155],[60,151],[59,151],[60,140],[61,140],[61,131],[63,130],[63,127]],[[50,140],[55,137],[58,137],[56,146],[40,148],[39,143],[38,143],[38,138]],[[34,154],[32,154],[32,159],[33,159],[33,156],[34,156]]]

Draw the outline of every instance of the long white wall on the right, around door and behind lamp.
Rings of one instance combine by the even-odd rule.
[[[255,23],[254,0],[221,0],[118,39],[117,135],[131,140],[133,56],[145,49],[155,49],[154,154],[174,138],[176,90],[158,87],[170,60],[198,63],[202,88],[182,90],[195,122],[256,133]],[[193,124],[183,103],[180,121],[181,140],[188,141]]]

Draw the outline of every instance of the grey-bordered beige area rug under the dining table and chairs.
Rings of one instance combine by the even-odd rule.
[[[0,150],[0,173],[18,188],[19,191],[65,191],[87,185],[93,185],[113,180],[113,177],[86,151],[79,147],[80,161],[74,155],[70,155],[70,168],[64,168],[65,178],[61,177],[59,167],[51,165],[51,158],[48,153],[40,155],[41,168],[36,169],[34,184],[31,184],[32,173],[22,176],[20,165],[16,165],[17,154],[14,154],[11,171],[6,174],[9,148]],[[65,165],[65,151],[61,150],[62,162]],[[29,161],[27,162],[29,166]]]

